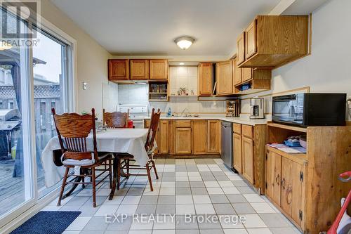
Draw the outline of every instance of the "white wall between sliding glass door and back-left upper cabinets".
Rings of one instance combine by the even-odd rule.
[[[102,84],[107,84],[107,59],[111,58],[110,53],[81,30],[51,1],[41,0],[41,15],[77,40],[77,112],[95,108],[101,116]],[[88,83],[87,90],[82,89],[82,82]]]

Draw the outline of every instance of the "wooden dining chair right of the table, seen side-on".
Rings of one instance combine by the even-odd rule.
[[[130,161],[133,160],[133,155],[130,155],[128,153],[117,153],[114,155],[115,159],[117,162],[114,162],[117,164],[117,190],[119,190],[119,186],[121,183],[121,171],[123,169],[126,169],[126,178],[129,176],[147,176],[149,183],[150,183],[150,189],[151,191],[154,190],[152,187],[152,179],[151,179],[151,174],[150,171],[154,169],[154,173],[156,174],[156,178],[158,179],[159,176],[157,175],[157,170],[156,166],[154,163],[154,150],[156,148],[154,147],[154,140],[157,134],[157,130],[159,127],[159,117],[161,115],[160,110],[157,110],[157,113],[154,112],[154,109],[152,109],[152,114],[151,114],[151,121],[150,121],[150,126],[149,126],[149,131],[147,132],[147,138],[146,138],[146,143],[145,143],[145,150],[147,152],[147,155],[149,156],[149,160],[147,161],[145,167],[140,167],[140,165],[133,165],[131,166]],[[129,171],[133,169],[144,169],[146,170],[147,174],[130,174]],[[115,184],[115,183],[113,183]],[[114,190],[114,188],[112,188]]]

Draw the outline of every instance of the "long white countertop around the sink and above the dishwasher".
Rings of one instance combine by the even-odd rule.
[[[193,114],[192,114],[193,115]],[[145,119],[150,119],[150,117],[145,117]],[[222,121],[237,123],[237,124],[267,124],[267,119],[249,119],[248,117],[225,117],[225,115],[210,115],[210,114],[199,114],[199,117],[166,117],[166,115],[161,115],[160,119],[173,119],[173,120],[196,120],[196,119],[218,119]]]

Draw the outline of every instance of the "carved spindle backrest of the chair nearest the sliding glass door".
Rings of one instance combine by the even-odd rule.
[[[91,115],[78,115],[77,113],[58,115],[55,112],[55,108],[51,109],[51,111],[53,112],[53,120],[58,132],[58,141],[60,141],[61,151],[65,159],[93,160],[91,152],[87,151],[86,146],[86,138],[93,129],[93,153],[95,162],[97,162],[95,109],[91,109]]]

